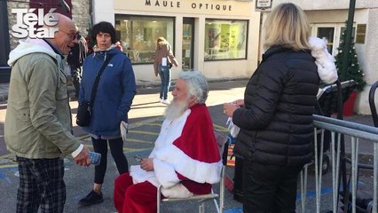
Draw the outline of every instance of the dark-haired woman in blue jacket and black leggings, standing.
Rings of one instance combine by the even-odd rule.
[[[99,78],[96,96],[91,103],[91,123],[83,130],[91,135],[93,149],[101,154],[101,162],[95,167],[94,185],[91,193],[79,201],[84,206],[103,200],[101,187],[107,166],[107,144],[120,174],[129,171],[123,154],[123,140],[128,126],[128,112],[136,94],[134,71],[130,59],[115,48],[115,29],[109,22],[99,22],[91,30],[96,41],[93,53],[83,63],[83,78],[79,103],[91,100],[91,92],[100,67],[110,59]],[[123,136],[123,137],[122,137]]]

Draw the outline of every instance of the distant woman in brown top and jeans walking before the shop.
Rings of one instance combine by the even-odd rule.
[[[156,51],[154,60],[154,74],[160,75],[160,102],[169,104],[168,91],[170,87],[170,68],[172,65],[177,67],[177,60],[173,56],[172,48],[164,37],[159,37],[156,41]]]

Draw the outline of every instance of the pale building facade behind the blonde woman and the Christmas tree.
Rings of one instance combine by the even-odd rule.
[[[287,1],[274,0],[272,7],[284,2]],[[318,0],[314,3],[311,0],[290,0],[289,2],[297,4],[303,9],[311,22],[311,36],[326,38],[328,51],[335,56],[340,37],[346,28],[350,1]],[[263,21],[267,14],[268,12],[263,12]],[[358,53],[359,67],[364,72],[367,83],[365,89],[358,92],[354,112],[371,114],[368,103],[369,90],[371,85],[378,81],[378,40],[376,39],[378,36],[378,1],[356,1],[352,36]],[[260,41],[263,42],[262,37]]]

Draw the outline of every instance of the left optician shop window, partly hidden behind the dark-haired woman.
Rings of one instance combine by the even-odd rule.
[[[115,32],[131,63],[154,63],[157,38],[173,43],[174,18],[116,14]]]

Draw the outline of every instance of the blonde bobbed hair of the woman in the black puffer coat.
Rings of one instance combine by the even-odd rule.
[[[282,45],[294,51],[309,50],[310,24],[301,8],[295,4],[279,4],[264,23],[264,48]]]

